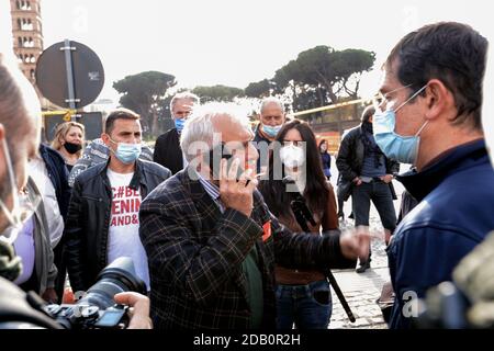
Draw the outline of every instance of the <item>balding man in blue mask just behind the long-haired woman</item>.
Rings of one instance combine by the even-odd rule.
[[[265,172],[268,166],[269,147],[287,121],[283,103],[273,97],[262,100],[259,120],[259,125],[254,137],[254,145],[259,152],[259,158],[257,159],[258,173]]]

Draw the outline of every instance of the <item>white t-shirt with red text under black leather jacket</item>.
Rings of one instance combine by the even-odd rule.
[[[139,238],[141,190],[131,189],[134,173],[121,174],[108,169],[112,186],[112,213],[108,238],[108,262],[120,257],[134,261],[136,274],[146,283],[149,291],[149,269],[147,254]]]

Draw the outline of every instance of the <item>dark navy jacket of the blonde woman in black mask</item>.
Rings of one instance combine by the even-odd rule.
[[[68,185],[68,170],[64,157],[58,151],[43,144],[40,145],[40,155],[45,162],[48,178],[55,188],[55,195],[57,196],[61,217],[64,217],[64,220],[67,220],[70,188]]]

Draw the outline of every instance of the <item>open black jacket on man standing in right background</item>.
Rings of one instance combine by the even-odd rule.
[[[362,172],[364,147],[361,139],[363,131],[361,125],[351,128],[341,140],[338,156],[336,157],[336,167],[341,177],[341,184],[351,182]],[[386,163],[386,174],[394,174],[400,171],[400,162],[389,159],[384,156]],[[390,190],[393,199],[396,200],[393,183],[390,182]]]

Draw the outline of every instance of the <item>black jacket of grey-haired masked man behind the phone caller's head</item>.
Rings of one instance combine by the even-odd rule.
[[[180,148],[180,136],[177,128],[172,128],[161,134],[155,144],[153,160],[177,173],[183,168],[182,149]]]

